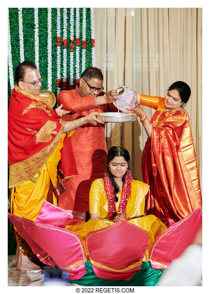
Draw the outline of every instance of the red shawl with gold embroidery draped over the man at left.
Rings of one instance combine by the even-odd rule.
[[[8,110],[9,188],[22,184],[50,157],[65,125],[51,108],[51,97],[27,93],[15,85]]]

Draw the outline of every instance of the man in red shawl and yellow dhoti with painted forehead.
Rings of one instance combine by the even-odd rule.
[[[11,213],[36,220],[44,200],[57,205],[57,164],[61,158],[63,139],[67,136],[65,133],[86,123],[98,125],[101,122],[95,112],[74,121],[66,122],[59,118],[69,111],[63,110],[62,105],[53,110],[51,97],[38,96],[43,77],[30,61],[17,66],[15,81],[17,84],[12,90],[8,110]],[[23,237],[15,227],[12,226],[12,229],[17,241],[13,265],[17,266],[17,270],[40,269],[33,262],[35,255]]]

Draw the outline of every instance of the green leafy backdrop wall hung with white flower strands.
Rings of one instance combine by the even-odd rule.
[[[93,8],[8,8],[8,106],[15,68],[35,62],[42,89],[56,97],[73,89],[82,71],[95,66]],[[16,243],[8,221],[8,255]]]

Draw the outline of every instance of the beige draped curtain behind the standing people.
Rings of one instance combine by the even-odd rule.
[[[191,88],[189,116],[202,182],[202,9],[95,8],[96,66],[106,91],[125,85],[139,93],[164,97],[173,82]],[[144,107],[148,117],[154,110]],[[107,148],[121,145],[132,157],[132,173],[141,176],[147,135],[139,118],[107,123]]]

